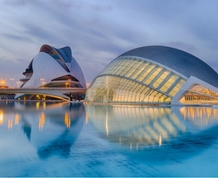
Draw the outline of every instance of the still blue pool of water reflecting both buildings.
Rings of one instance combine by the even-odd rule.
[[[218,108],[0,103],[0,176],[218,176]]]

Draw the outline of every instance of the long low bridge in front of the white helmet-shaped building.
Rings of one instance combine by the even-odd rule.
[[[67,99],[68,95],[85,94],[85,88],[6,88],[0,89],[1,94],[41,94],[60,99]]]

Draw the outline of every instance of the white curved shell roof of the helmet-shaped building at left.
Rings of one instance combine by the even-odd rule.
[[[64,70],[62,70],[60,66]],[[86,87],[82,69],[76,59],[72,56],[71,48],[69,46],[56,49],[47,44],[42,45],[39,54],[32,59],[23,74],[25,75],[28,72],[33,73],[33,76],[37,76],[38,78],[47,78],[51,81],[58,77],[69,75],[71,78],[78,80],[84,88]],[[22,86],[36,87],[41,85],[41,82],[37,84],[39,80],[36,80],[34,77],[32,78],[33,82],[31,82],[32,80],[30,79]]]

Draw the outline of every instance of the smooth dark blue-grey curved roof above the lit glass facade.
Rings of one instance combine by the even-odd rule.
[[[186,77],[195,76],[218,87],[218,74],[199,58],[171,47],[144,46],[127,51],[121,56],[138,56],[167,66]]]

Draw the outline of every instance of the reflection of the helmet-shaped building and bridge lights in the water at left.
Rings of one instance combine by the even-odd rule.
[[[52,155],[68,157],[84,122],[82,104],[69,103],[0,103],[0,129],[24,133],[40,158]],[[1,131],[0,130],[0,131]]]

